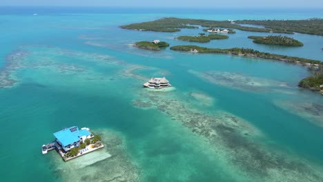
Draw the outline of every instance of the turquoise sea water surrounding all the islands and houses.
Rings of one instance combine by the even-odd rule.
[[[229,39],[201,44],[174,39],[197,35],[201,28],[175,33],[119,28],[162,17],[323,18],[322,10],[0,10],[3,181],[323,180],[323,97],[297,88],[310,74],[306,67],[128,46],[161,39],[323,61],[322,36],[288,35],[304,47],[282,48],[247,38],[267,35],[259,32],[237,30]],[[175,89],[144,90],[141,85],[150,77],[167,77]],[[208,124],[199,125],[202,121]],[[52,133],[72,125],[106,136],[101,156],[64,163],[56,152],[41,154]],[[106,153],[112,157],[102,158]]]

